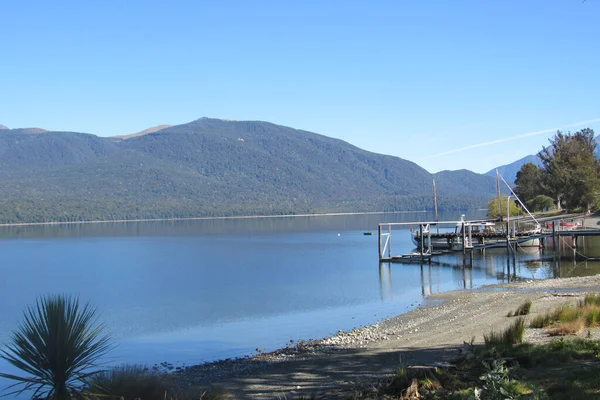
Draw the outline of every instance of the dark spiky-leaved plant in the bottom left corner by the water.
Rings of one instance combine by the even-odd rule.
[[[97,372],[96,361],[112,347],[97,324],[96,309],[90,303],[80,307],[77,297],[48,295],[23,314],[24,321],[0,357],[26,376],[0,377],[17,381],[12,393],[33,390],[33,398],[56,400],[78,396],[84,380]]]

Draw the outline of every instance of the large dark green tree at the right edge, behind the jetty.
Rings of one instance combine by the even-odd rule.
[[[600,163],[596,157],[594,131],[589,128],[573,134],[561,131],[550,146],[539,153],[543,163],[546,193],[567,209],[590,209],[600,189]]]

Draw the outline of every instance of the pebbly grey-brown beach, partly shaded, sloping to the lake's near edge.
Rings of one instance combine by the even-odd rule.
[[[474,337],[476,343],[483,343],[483,335],[491,329],[508,326],[514,319],[506,314],[526,299],[533,302],[527,317],[531,318],[597,291],[600,276],[435,294],[428,298],[429,306],[373,326],[249,359],[190,367],[176,376],[194,386],[224,387],[242,399],[347,397],[356,383],[393,373],[400,366],[451,361],[465,341]],[[600,338],[598,331],[591,334]],[[528,329],[525,337],[529,342],[550,340],[538,329]]]

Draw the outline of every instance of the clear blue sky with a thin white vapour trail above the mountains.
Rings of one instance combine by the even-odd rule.
[[[3,1],[0,124],[207,116],[485,172],[600,134],[600,0]]]

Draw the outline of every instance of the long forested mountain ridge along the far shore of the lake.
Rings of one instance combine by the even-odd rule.
[[[484,206],[493,178],[260,121],[201,118],[127,139],[0,134],[0,221],[172,218]]]

